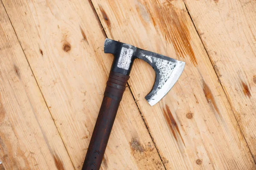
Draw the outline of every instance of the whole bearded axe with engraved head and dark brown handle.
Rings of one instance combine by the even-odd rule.
[[[104,52],[113,54],[114,60],[82,170],[100,168],[134,59],[143,59],[156,72],[154,86],[145,96],[151,106],[168,93],[185,67],[185,62],[108,38],[104,43]]]

